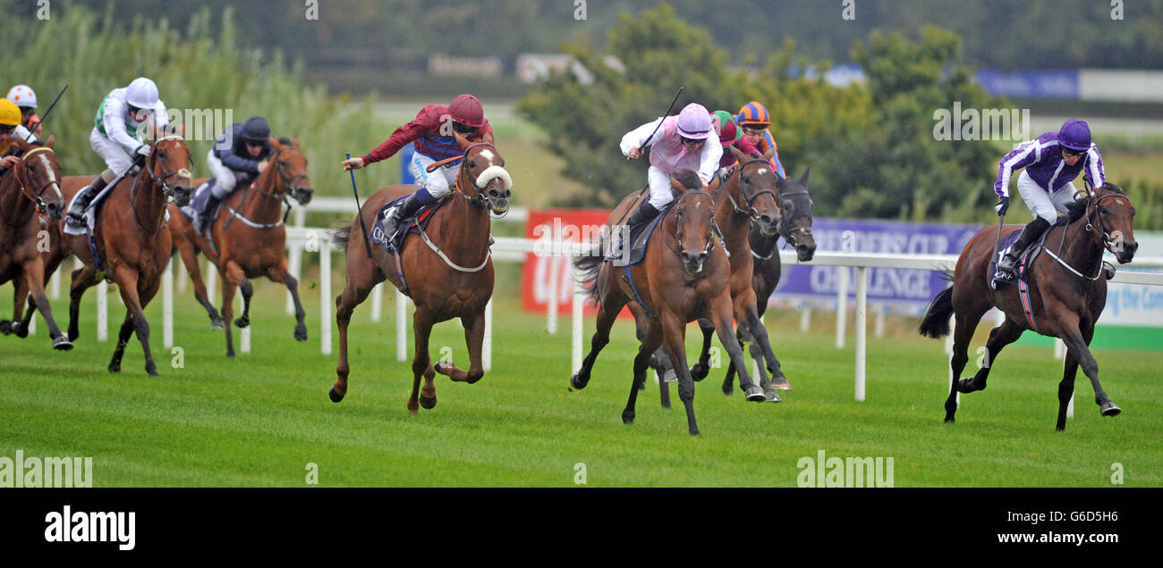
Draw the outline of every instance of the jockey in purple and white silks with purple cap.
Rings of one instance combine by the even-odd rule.
[[[1090,125],[1078,118],[1068,120],[1058,131],[1022,143],[1001,158],[993,185],[999,197],[994,206],[998,216],[1009,209],[1009,177],[1020,167],[1026,170],[1018,177],[1018,193],[1034,214],[1034,221],[1026,224],[1018,242],[998,261],[998,272],[1011,279],[1021,253],[1057,221],[1058,213],[1065,213],[1066,206],[1073,203],[1078,193],[1073,179],[1084,173],[1092,186],[1106,182],[1103,157],[1091,142]]]

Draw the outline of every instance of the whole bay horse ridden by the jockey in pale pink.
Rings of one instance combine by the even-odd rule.
[[[687,430],[691,436],[698,436],[694,382],[686,368],[684,344],[688,322],[700,317],[715,322],[719,339],[727,347],[732,364],[740,371],[747,400],[763,402],[766,396],[751,382],[743,367],[743,351],[732,332],[730,266],[721,242],[715,246],[721,237],[715,227],[714,196],[701,189],[702,180],[690,170],[672,177],[671,185],[680,193],[658,220],[658,233],[648,243],[641,263],[629,266],[628,271],[615,267],[612,261],[605,260],[601,250],[579,257],[575,263],[583,272],[582,280],[592,285],[590,295],[598,303],[598,325],[582,368],[570,378],[570,387],[583,389],[588,384],[598,353],[609,343],[609,329],[618,312],[634,300],[648,310],[650,317],[634,359],[634,383],[622,411],[622,422],[634,422],[634,408],[638,389],[645,380],[645,369],[651,354],[662,345],[678,374],[678,396],[686,409]],[[626,207],[622,203],[614,209],[607,227],[614,227],[614,220],[621,218]],[[634,285],[622,276],[626,272],[632,275]]]

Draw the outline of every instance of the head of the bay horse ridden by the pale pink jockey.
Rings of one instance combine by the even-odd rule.
[[[691,170],[671,177],[671,186],[679,193],[675,202],[675,239],[678,242],[683,269],[694,275],[711,257],[719,227],[715,225],[715,202],[702,190],[702,180]]]

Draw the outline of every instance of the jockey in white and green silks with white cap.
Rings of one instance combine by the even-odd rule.
[[[85,209],[93,197],[114,178],[124,175],[135,163],[149,157],[151,149],[141,139],[149,123],[155,129],[170,123],[165,103],[157,98],[157,85],[154,81],[138,77],[128,87],[115,88],[105,95],[93,117],[88,144],[109,168],[79,192],[80,195],[69,208],[69,217],[73,222],[83,224]]]

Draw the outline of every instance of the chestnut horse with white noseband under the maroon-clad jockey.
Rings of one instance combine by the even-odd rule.
[[[426,409],[436,405],[435,373],[454,381],[470,384],[485,372],[480,348],[485,336],[485,305],[493,294],[493,261],[488,251],[490,213],[508,211],[513,181],[505,171],[505,159],[490,143],[472,144],[461,138],[464,158],[456,177],[456,187],[449,202],[431,214],[426,231],[408,235],[400,246],[399,266],[395,256],[372,245],[372,261],[364,249],[365,237],[357,218],[351,225],[333,233],[335,240],[347,246],[348,282],[335,299],[335,322],[340,328],[338,379],[331,387],[333,402],[348,393],[348,323],[351,312],[368,293],[384,280],[412,296],[416,304],[412,326],[416,336],[416,353],[412,360],[412,396],[408,411],[416,414],[416,396]],[[377,213],[392,200],[412,193],[415,186],[388,186],[376,192],[359,210],[368,230],[378,228]],[[405,282],[406,281],[406,282]],[[428,354],[428,336],[434,324],[461,318],[469,347],[469,371],[437,361],[434,366]],[[420,391],[420,376],[424,378]]]

